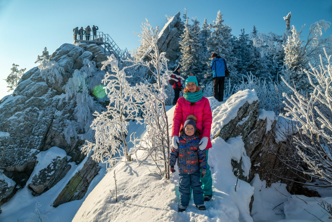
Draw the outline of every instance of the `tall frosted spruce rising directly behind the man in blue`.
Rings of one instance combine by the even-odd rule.
[[[212,29],[213,32],[207,41],[207,49],[209,54],[212,53],[218,54],[220,57],[226,59],[227,68],[230,72],[230,77],[233,82],[238,80],[236,76],[236,57],[233,55],[233,44],[232,44],[232,29],[230,26],[223,24],[224,20],[222,19],[222,14],[220,11],[217,13],[217,18],[213,21]],[[210,72],[210,75],[212,73]]]

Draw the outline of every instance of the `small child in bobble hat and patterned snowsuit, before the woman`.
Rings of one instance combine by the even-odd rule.
[[[190,187],[193,190],[194,203],[200,210],[206,210],[204,205],[202,182],[200,177],[204,177],[207,168],[206,151],[200,150],[199,135],[201,132],[196,129],[196,117],[190,115],[183,124],[180,131],[178,149],[172,149],[169,165],[174,173],[174,165],[178,160],[178,171],[180,177],[180,206],[179,212],[186,210],[189,205]],[[202,175],[200,173],[202,169]]]

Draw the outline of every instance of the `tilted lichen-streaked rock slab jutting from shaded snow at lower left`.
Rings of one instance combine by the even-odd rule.
[[[84,163],[82,169],[75,173],[65,188],[63,188],[59,196],[54,200],[53,206],[57,207],[60,204],[67,203],[69,201],[82,199],[88,190],[91,180],[98,174],[100,169],[98,165],[98,163],[89,157]]]

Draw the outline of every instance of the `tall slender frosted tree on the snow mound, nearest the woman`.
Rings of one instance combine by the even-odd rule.
[[[151,52],[147,55],[147,61],[140,60],[138,64],[149,68],[153,81],[150,84],[139,85],[140,99],[143,104],[141,113],[147,135],[138,148],[143,149],[146,153],[145,159],[151,157],[158,168],[158,164],[161,162],[164,165],[165,178],[169,179],[170,139],[166,114],[168,98],[166,89],[172,72],[168,70],[168,59],[165,57],[165,53],[159,53],[158,27],[154,29],[146,20],[145,23],[142,23],[142,28],[141,33],[136,34],[141,38],[142,44],[150,47]]]

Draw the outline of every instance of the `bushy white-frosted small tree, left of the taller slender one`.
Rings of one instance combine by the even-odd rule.
[[[119,68],[115,55],[108,56],[108,60],[102,63],[102,69],[110,67],[103,79],[110,104],[106,107],[107,111],[95,112],[96,118],[91,124],[95,131],[95,141],[86,141],[87,144],[81,150],[85,155],[90,155],[93,151],[91,157],[97,162],[106,163],[109,168],[119,161],[119,156],[115,156],[121,156],[121,150],[127,161],[131,161],[125,138],[128,134],[129,120],[139,120],[137,113],[140,97],[137,87],[130,87],[127,78],[131,76],[127,76],[124,71],[126,67]],[[130,142],[135,144],[135,140]]]

